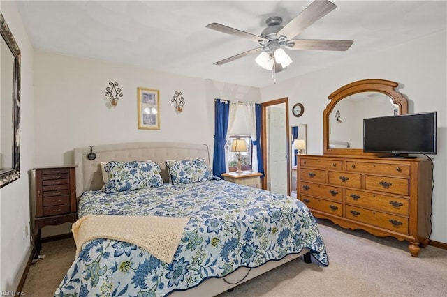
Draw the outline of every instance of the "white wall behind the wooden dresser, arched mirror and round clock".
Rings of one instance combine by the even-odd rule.
[[[305,105],[300,118],[289,111],[289,119],[291,125],[307,124],[307,153],[323,153],[323,110],[329,103],[328,96],[350,82],[372,78],[398,82],[399,91],[409,100],[409,113],[437,111],[438,153],[432,155],[435,185],[430,238],[443,243],[447,243],[446,36],[447,32],[442,31],[261,89],[263,101],[288,97],[290,106],[295,102]]]

